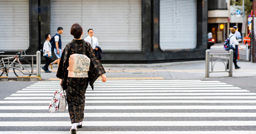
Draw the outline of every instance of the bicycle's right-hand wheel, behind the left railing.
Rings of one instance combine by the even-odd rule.
[[[29,61],[25,60],[25,59],[21,59],[19,60],[20,64],[22,64],[24,67],[20,66],[18,62],[16,62],[17,64],[14,64],[13,67],[16,67],[20,70],[22,70],[23,73],[32,73],[32,65],[30,64]],[[20,72],[18,69],[13,68],[13,72],[14,74],[18,77],[18,76],[31,76],[30,75],[24,75],[22,72]]]

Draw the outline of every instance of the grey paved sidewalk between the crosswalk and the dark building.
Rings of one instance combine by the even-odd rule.
[[[238,61],[240,69],[234,69],[233,77],[252,77],[256,76],[256,63]],[[211,66],[211,64],[210,64]],[[171,62],[160,64],[104,64],[108,80],[122,79],[206,79],[205,61]],[[41,69],[42,80],[56,80],[57,66],[53,72],[45,73]],[[222,62],[217,62],[214,70],[225,70]],[[228,77],[228,72],[210,73],[210,79]],[[209,79],[209,78],[207,78]]]

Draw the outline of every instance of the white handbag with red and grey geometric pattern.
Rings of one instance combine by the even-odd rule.
[[[57,107],[59,105],[62,93],[61,93],[61,86],[59,87],[59,89],[54,93],[53,98],[51,99],[50,105],[49,105],[49,109],[48,111],[51,113],[56,113]]]

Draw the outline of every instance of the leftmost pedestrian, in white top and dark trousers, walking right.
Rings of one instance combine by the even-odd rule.
[[[46,73],[51,73],[51,71],[49,71],[48,66],[51,63],[51,43],[49,42],[51,39],[51,35],[49,33],[46,33],[44,35],[44,38],[46,39],[44,42],[44,46],[43,46],[43,56],[45,58],[45,65],[42,67],[44,72]]]

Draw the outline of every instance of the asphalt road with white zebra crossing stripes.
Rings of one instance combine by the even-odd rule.
[[[91,91],[91,89],[88,89],[86,93],[86,106],[85,106],[85,119],[84,119],[84,126],[83,128],[80,128],[79,131],[108,131],[108,133],[114,133],[111,131],[168,131],[166,133],[170,133],[169,131],[180,131],[180,133],[184,131],[209,131],[207,133],[210,133],[210,131],[219,131],[219,132],[228,132],[228,131],[250,131],[254,132],[256,128],[256,118],[254,116],[250,116],[248,113],[254,114],[255,113],[255,107],[256,98],[250,99],[246,97],[256,97],[256,95],[253,95],[256,93],[255,89],[255,81],[256,77],[244,77],[244,78],[225,78],[225,79],[210,79],[207,80],[210,81],[219,81],[213,84],[207,85],[205,82],[195,82],[195,81],[185,81],[183,83],[177,83],[177,81],[164,81],[164,80],[156,80],[156,81],[123,81],[123,84],[120,85],[113,85],[118,84],[121,81],[113,81],[113,83],[105,83],[101,84],[100,82],[95,83],[95,91]],[[111,82],[111,81],[108,81]],[[161,84],[162,83],[162,84]],[[193,84],[191,84],[193,83]],[[202,83],[201,85],[198,83]],[[230,85],[227,86],[227,89],[223,89],[222,85],[219,83],[224,83],[224,85]],[[226,83],[226,84],[225,84]],[[36,82],[17,82],[17,81],[6,81],[6,82],[0,82],[0,91],[1,91],[1,100],[0,100],[0,131],[8,132],[8,131],[65,131],[63,133],[70,133],[70,118],[68,117],[68,114],[66,116],[61,117],[44,117],[43,114],[49,113],[47,109],[38,109],[36,110],[36,107],[39,106],[46,106],[49,105],[49,103],[12,103],[9,101],[49,101],[50,99],[5,99],[6,97],[35,97],[35,96],[16,96],[15,94],[50,94],[50,95],[40,95],[38,97],[49,97],[51,98],[51,92],[54,92],[53,90],[50,90],[48,87],[43,86],[56,86],[57,83],[39,83],[41,87],[34,87],[33,89],[38,90],[29,90],[32,86],[30,85],[36,85],[38,83]],[[141,85],[142,84],[142,85]],[[175,85],[176,84],[176,85]],[[233,85],[233,86],[232,86]],[[30,87],[29,87],[30,86]],[[38,85],[37,85],[38,86]],[[114,87],[111,87],[114,86]],[[134,87],[133,87],[134,86]],[[176,90],[222,90],[222,91],[152,91],[152,90],[175,90],[173,88],[180,88],[184,87],[184,89],[176,89]],[[143,89],[146,88],[146,89]],[[213,89],[212,87],[215,87],[216,89]],[[236,88],[237,89],[231,89]],[[162,89],[165,88],[165,89]],[[186,88],[186,89],[185,89]],[[202,89],[205,88],[205,89]],[[230,89],[229,89],[230,88]],[[22,90],[25,89],[25,90]],[[118,92],[116,92],[119,90]],[[123,91],[126,90],[126,91]],[[144,91],[137,91],[136,90],[144,90]],[[248,90],[248,91],[224,91],[224,90]],[[16,93],[19,91],[18,93]],[[24,93],[20,91],[39,91],[38,93]],[[49,92],[40,92],[40,91],[49,91]],[[109,91],[109,92],[108,92]],[[249,92],[250,91],[250,92]],[[122,95],[120,93],[123,93]],[[133,95],[130,95],[133,93]],[[135,93],[135,94],[134,94]],[[141,94],[140,94],[141,93]],[[149,95],[149,93],[152,93],[152,95]],[[161,93],[158,94],[158,93]],[[183,93],[184,95],[167,95],[169,93]],[[198,95],[191,95],[190,93],[195,93]],[[212,95],[200,95],[201,93],[207,93]],[[217,95],[217,94],[229,94],[229,93],[237,93],[241,95]],[[249,93],[252,95],[244,95]],[[100,95],[103,94],[103,95]],[[119,94],[119,95],[118,95]],[[109,98],[100,98],[100,97],[109,97]],[[200,99],[200,97],[203,96],[216,96],[217,98],[211,99],[211,98],[204,98]],[[226,96],[234,97],[233,99],[227,99]],[[237,96],[242,96],[243,99],[237,99]],[[245,98],[244,98],[245,96]],[[119,97],[119,98],[115,98]],[[124,98],[124,97],[135,97],[135,98]],[[137,98],[136,98],[137,97]],[[138,99],[138,97],[141,97]],[[146,98],[149,97],[149,98]],[[152,98],[150,98],[152,97]],[[161,97],[170,97],[170,98],[161,98]],[[172,98],[174,97],[174,98]],[[177,98],[178,97],[178,98]],[[179,97],[181,97],[179,99]],[[184,97],[191,97],[190,99],[184,99]],[[220,98],[218,98],[220,97]],[[224,97],[224,99],[223,99]],[[158,98],[158,99],[154,99]],[[222,98],[222,99],[221,99]],[[99,101],[95,102],[94,101]],[[104,101],[116,101],[113,103],[110,102],[104,102]],[[118,102],[118,101],[127,101],[127,102]],[[128,102],[128,101],[135,101],[135,102]],[[144,101],[144,102],[136,102],[136,101]],[[147,101],[153,101],[151,103],[148,103]],[[159,102],[156,102],[159,101]],[[163,102],[163,101],[177,101],[177,102]],[[180,102],[179,102],[180,101]],[[198,102],[187,102],[187,103],[181,103],[181,101],[198,101]],[[216,102],[200,102],[200,101],[224,101],[221,103]],[[225,101],[252,101],[252,102],[242,102],[242,103],[233,103],[233,102],[225,102]],[[5,103],[9,102],[9,103]],[[12,106],[11,108],[7,108],[6,106]],[[15,109],[18,106],[20,107],[18,110]],[[28,109],[25,108],[25,106],[33,106]],[[98,109],[90,108],[92,107],[98,107]],[[103,107],[111,107],[115,106],[113,109],[103,108]],[[124,109],[120,107],[126,107]],[[139,108],[127,108],[127,107],[133,107],[133,106],[139,106]],[[151,108],[144,108],[145,106],[153,106]],[[163,108],[165,106],[177,106],[178,108]],[[180,108],[181,106],[185,106],[185,108]],[[193,106],[196,106],[197,108],[191,108]],[[218,107],[217,109],[205,109],[202,107],[210,106],[210,107]],[[224,108],[219,108],[220,106],[224,106]],[[236,107],[246,107],[245,109],[240,109]],[[247,107],[254,107],[254,108],[248,108]],[[159,107],[159,108],[157,108]],[[227,109],[226,109],[227,107]],[[228,107],[233,107],[229,109]],[[5,115],[5,114],[12,114],[12,115]],[[19,114],[25,114],[25,113],[39,113],[35,117],[24,116],[19,117]],[[68,113],[68,110],[66,109],[65,112],[58,112],[58,113]],[[57,113],[57,114],[58,114]],[[115,113],[110,117],[107,117],[105,115],[103,116],[92,116],[91,114],[100,114],[104,113],[105,115]],[[141,115],[140,113],[151,114],[154,116],[145,116]],[[161,113],[167,113],[167,115],[164,115],[162,117],[158,117]],[[225,114],[230,113],[231,117],[227,115],[223,115],[220,117],[214,117],[214,116],[191,116],[191,113],[195,113],[197,115],[207,115],[207,114]],[[240,113],[242,116],[238,117],[232,117],[233,113]],[[56,114],[56,115],[57,115]],[[122,114],[121,116],[118,116],[119,114]],[[123,114],[128,114],[128,116],[124,116]],[[139,114],[137,117],[135,116],[129,116],[133,114]],[[177,116],[177,114],[184,114],[185,116]],[[51,114],[52,115],[52,114]],[[172,116],[170,116],[172,115]],[[20,115],[22,116],[22,115]],[[32,116],[32,114],[31,114]],[[42,116],[42,117],[40,117]],[[9,122],[9,121],[13,121]],[[21,122],[19,122],[21,121]],[[27,126],[27,124],[33,122],[32,126]],[[43,122],[43,121],[49,121]],[[61,121],[61,123],[65,125],[60,126],[52,126],[50,125],[53,121]],[[107,122],[109,121],[109,122]],[[129,122],[132,121],[132,122]],[[143,121],[143,122],[140,122]],[[167,121],[167,122],[158,122],[156,121]],[[175,122],[176,121],[176,122]],[[177,122],[181,121],[181,122]],[[190,122],[193,121],[193,122]],[[210,121],[210,122],[206,122]],[[211,122],[213,121],[213,122]],[[217,121],[217,122],[214,122]],[[222,121],[230,121],[224,123],[224,125],[221,125]],[[252,122],[243,122],[242,121],[252,121]],[[17,125],[15,122],[18,122],[19,125]],[[24,123],[22,123],[24,122]],[[107,122],[107,123],[106,123]],[[116,125],[114,123],[117,123]],[[156,123],[156,124],[154,124]],[[239,124],[234,125],[234,124]],[[248,123],[246,125],[246,123]],[[67,125],[66,125],[67,124]],[[94,125],[93,125],[94,124]],[[96,125],[95,125],[96,124]],[[114,125],[113,125],[114,124]],[[127,124],[129,124],[127,126]],[[170,125],[166,125],[170,124]],[[213,125],[211,125],[213,124]],[[227,125],[228,124],[228,125]],[[254,125],[253,125],[254,124]],[[120,125],[120,126],[118,126]],[[230,125],[230,126],[229,126]],[[182,131],[182,132],[181,132]],[[1,132],[0,132],[1,133]],[[36,132],[33,132],[36,133]],[[79,132],[78,132],[79,133]],[[149,133],[149,132],[147,132]],[[198,133],[198,132],[196,132]],[[248,133],[248,132],[246,132]]]

